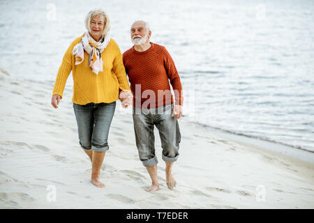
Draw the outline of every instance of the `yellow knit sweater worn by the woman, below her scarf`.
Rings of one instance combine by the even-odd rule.
[[[130,91],[122,54],[117,43],[110,39],[110,43],[101,53],[103,71],[98,72],[98,75],[96,75],[88,66],[89,54],[87,52],[84,52],[84,61],[79,65],[75,65],[72,51],[81,39],[82,36],[76,38],[64,54],[52,95],[60,95],[62,98],[66,79],[68,79],[71,70],[73,75],[72,101],[75,104],[110,103],[119,99],[119,89]]]

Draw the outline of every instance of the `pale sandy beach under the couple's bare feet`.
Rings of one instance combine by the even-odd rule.
[[[105,188],[94,187],[72,89],[66,85],[54,109],[53,84],[0,72],[0,208],[314,208],[313,162],[218,137],[184,117],[177,187],[165,185],[155,132],[161,190],[146,192],[151,181],[137,155],[132,116],[119,103],[100,175]]]

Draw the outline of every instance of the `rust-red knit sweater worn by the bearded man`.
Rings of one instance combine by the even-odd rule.
[[[169,81],[174,90],[175,104],[183,105],[180,77],[165,47],[151,43],[149,49],[138,52],[133,46],[123,55],[124,67],[134,96],[133,106],[150,108],[173,103]]]

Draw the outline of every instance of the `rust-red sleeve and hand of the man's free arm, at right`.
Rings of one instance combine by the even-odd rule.
[[[174,65],[174,61],[170,56],[167,49],[164,47],[164,55],[165,55],[165,70],[167,71],[168,78],[170,79],[170,84],[172,85],[172,89],[174,90],[174,98],[175,105],[183,105],[184,97],[182,92],[182,85],[179,73],[177,71],[176,66]]]

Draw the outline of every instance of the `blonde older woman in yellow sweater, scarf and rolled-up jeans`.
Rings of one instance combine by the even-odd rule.
[[[52,106],[58,108],[66,79],[73,72],[73,109],[80,146],[91,159],[91,183],[100,182],[100,167],[108,150],[108,133],[116,100],[128,107],[131,93],[122,55],[110,38],[110,20],[103,10],[91,10],[85,18],[87,31],[70,44],[59,68],[52,92]]]

